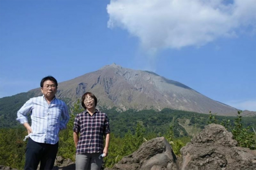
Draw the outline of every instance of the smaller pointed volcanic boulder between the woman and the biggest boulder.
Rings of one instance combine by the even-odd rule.
[[[106,170],[178,170],[178,160],[164,137],[144,142],[140,148],[123,157]]]

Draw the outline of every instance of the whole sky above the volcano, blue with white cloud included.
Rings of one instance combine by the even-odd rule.
[[[256,111],[256,0],[0,1],[0,97],[116,63]]]

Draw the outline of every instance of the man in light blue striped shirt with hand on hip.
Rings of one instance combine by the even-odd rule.
[[[59,131],[66,129],[69,120],[67,105],[57,99],[57,80],[47,76],[40,83],[42,96],[29,99],[17,116],[29,136],[26,147],[25,170],[53,169],[59,147]],[[27,113],[31,115],[31,126]],[[25,138],[26,139],[26,138]]]

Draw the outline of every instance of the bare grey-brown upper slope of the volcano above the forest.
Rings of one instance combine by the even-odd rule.
[[[39,89],[31,90],[41,92]],[[199,113],[236,115],[237,109],[214,101],[179,82],[154,72],[132,70],[116,64],[107,65],[75,79],[59,83],[57,96],[75,102],[84,92],[93,92],[98,105],[120,110],[173,108]]]

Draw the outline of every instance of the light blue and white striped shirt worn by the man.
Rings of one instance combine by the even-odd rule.
[[[69,120],[67,105],[54,98],[50,104],[44,96],[29,99],[18,111],[16,120],[21,124],[28,122],[27,113],[31,115],[30,138],[39,143],[56,144],[59,132],[66,129]]]

